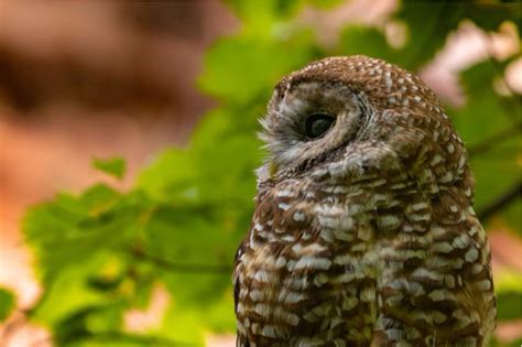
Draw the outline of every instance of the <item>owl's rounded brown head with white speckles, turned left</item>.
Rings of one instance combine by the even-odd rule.
[[[467,174],[465,149],[435,94],[377,58],[327,57],[290,74],[261,123],[269,151],[261,181],[318,169],[345,176],[402,169],[428,181]]]

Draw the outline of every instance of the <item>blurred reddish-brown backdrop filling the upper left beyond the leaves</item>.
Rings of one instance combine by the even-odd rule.
[[[0,283],[23,305],[37,291],[24,209],[107,180],[93,158],[124,158],[124,186],[184,143],[213,105],[195,87],[203,53],[237,26],[218,1],[1,1]]]

